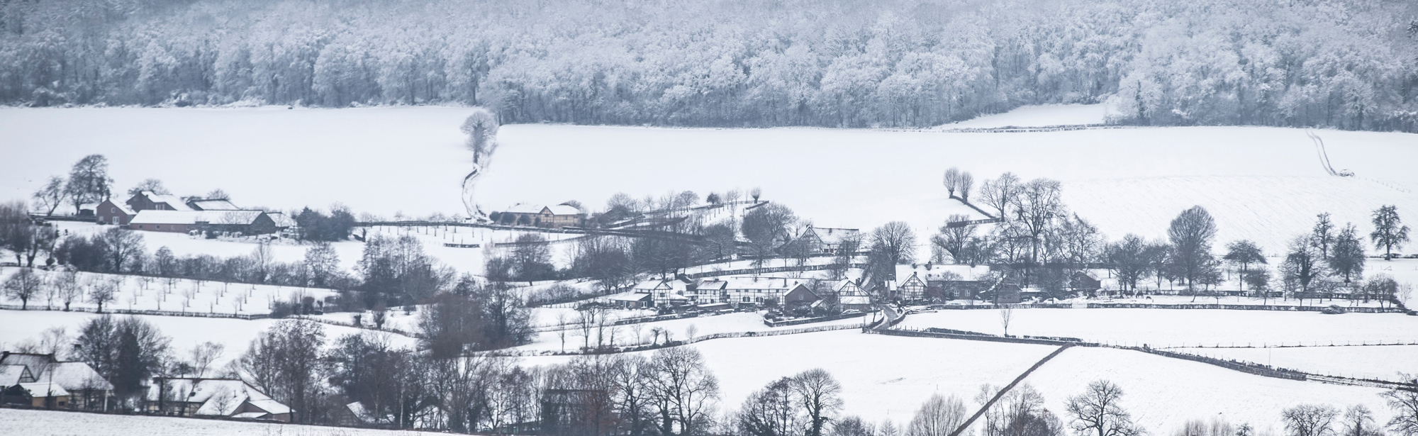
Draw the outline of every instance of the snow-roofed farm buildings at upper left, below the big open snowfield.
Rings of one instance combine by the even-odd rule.
[[[295,226],[282,212],[244,210],[225,198],[187,198],[142,191],[119,204],[105,200],[94,207],[98,224],[135,231],[174,234],[267,235]]]

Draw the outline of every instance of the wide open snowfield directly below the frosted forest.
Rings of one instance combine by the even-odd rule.
[[[386,217],[457,214],[471,160],[457,129],[467,113],[0,109],[0,143],[16,150],[0,163],[0,195],[27,198],[79,157],[105,153],[121,190],[153,177],[177,194],[220,187],[242,205],[284,210],[339,201]],[[67,127],[74,125],[86,127]],[[929,234],[956,204],[946,198],[940,173],[960,167],[977,184],[1004,171],[1062,180],[1065,201],[1112,238],[1161,238],[1177,212],[1200,204],[1215,215],[1218,241],[1249,238],[1271,252],[1307,231],[1319,212],[1367,232],[1368,215],[1381,204],[1395,204],[1401,214],[1418,211],[1418,171],[1409,168],[1418,161],[1418,136],[1319,134],[1334,167],[1353,170],[1356,178],[1327,176],[1305,132],[1278,127],[940,133],[512,125],[499,133],[478,198],[485,210],[567,200],[598,207],[617,191],[638,198],[761,187],[764,198],[821,226],[905,221]],[[220,153],[233,149],[245,151]],[[844,161],[851,163],[847,176],[828,170]],[[251,177],[257,168],[262,177]]]

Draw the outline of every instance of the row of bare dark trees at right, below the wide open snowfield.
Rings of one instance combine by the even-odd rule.
[[[1127,294],[1137,293],[1139,283],[1147,279],[1156,282],[1156,289],[1166,282],[1180,285],[1191,296],[1214,297],[1225,294],[1219,287],[1228,280],[1238,283],[1238,292],[1249,289],[1259,299],[1278,293],[1282,299],[1302,302],[1336,294],[1394,302],[1395,296],[1411,292],[1387,275],[1363,280],[1368,246],[1391,259],[1394,248],[1409,241],[1409,228],[1392,205],[1373,211],[1367,232],[1353,222],[1340,226],[1329,214],[1320,214],[1309,234],[1297,235],[1283,253],[1268,256],[1245,239],[1218,248],[1217,222],[1202,207],[1180,212],[1170,222],[1166,239],[1147,241],[1129,234],[1109,241],[1088,219],[1068,210],[1061,195],[1062,184],[1055,180],[1021,181],[1004,173],[974,188],[970,173],[950,168],[944,184],[951,197],[973,201],[1001,222],[990,225],[987,232],[980,231],[980,224],[942,226],[930,238],[932,262],[991,265],[1021,286],[1034,286],[1056,297],[1078,287],[1078,273],[1095,268],[1110,269],[1117,277],[1116,292]],[[963,221],[970,217],[946,219],[947,224]],[[876,229],[873,238],[882,241],[878,235],[889,226]],[[909,234],[909,228],[902,234]],[[873,243],[872,255],[888,255],[889,246]],[[1273,273],[1271,256],[1282,259],[1273,265]],[[912,259],[898,259],[898,263],[905,262]]]

